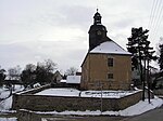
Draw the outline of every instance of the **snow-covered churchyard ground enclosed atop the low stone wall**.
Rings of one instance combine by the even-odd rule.
[[[50,96],[82,96],[82,97],[103,97],[103,98],[121,98],[138,91],[78,91],[75,89],[48,89],[36,93],[35,95]]]

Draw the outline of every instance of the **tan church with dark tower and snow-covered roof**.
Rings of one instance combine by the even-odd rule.
[[[89,50],[82,64],[83,90],[129,90],[131,54],[106,36],[97,10],[90,26]]]

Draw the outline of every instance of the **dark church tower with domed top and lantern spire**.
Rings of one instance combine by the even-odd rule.
[[[93,25],[90,26],[88,31],[89,33],[89,51],[98,46],[100,43],[105,41],[111,41],[110,38],[106,37],[106,28],[101,24],[102,16],[98,12],[93,16]]]

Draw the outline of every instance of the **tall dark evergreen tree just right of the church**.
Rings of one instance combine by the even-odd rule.
[[[150,41],[148,41],[148,31],[143,30],[142,27],[139,28],[131,28],[131,36],[128,38],[128,52],[133,54],[131,57],[131,65],[133,68],[139,69],[140,71],[140,80],[143,85],[143,95],[142,100],[145,100],[145,81],[146,72],[149,73],[149,62],[151,59],[155,59],[156,57],[153,56],[154,51],[150,52],[150,50],[153,50],[153,48],[150,48]],[[142,66],[143,62],[143,66]],[[149,80],[148,80],[149,81]],[[149,83],[148,83],[149,86]],[[149,89],[149,88],[148,88]]]

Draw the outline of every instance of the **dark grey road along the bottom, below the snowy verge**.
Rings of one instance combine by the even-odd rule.
[[[43,120],[42,120],[43,121]],[[45,121],[163,121],[163,106],[135,117],[58,117]]]

